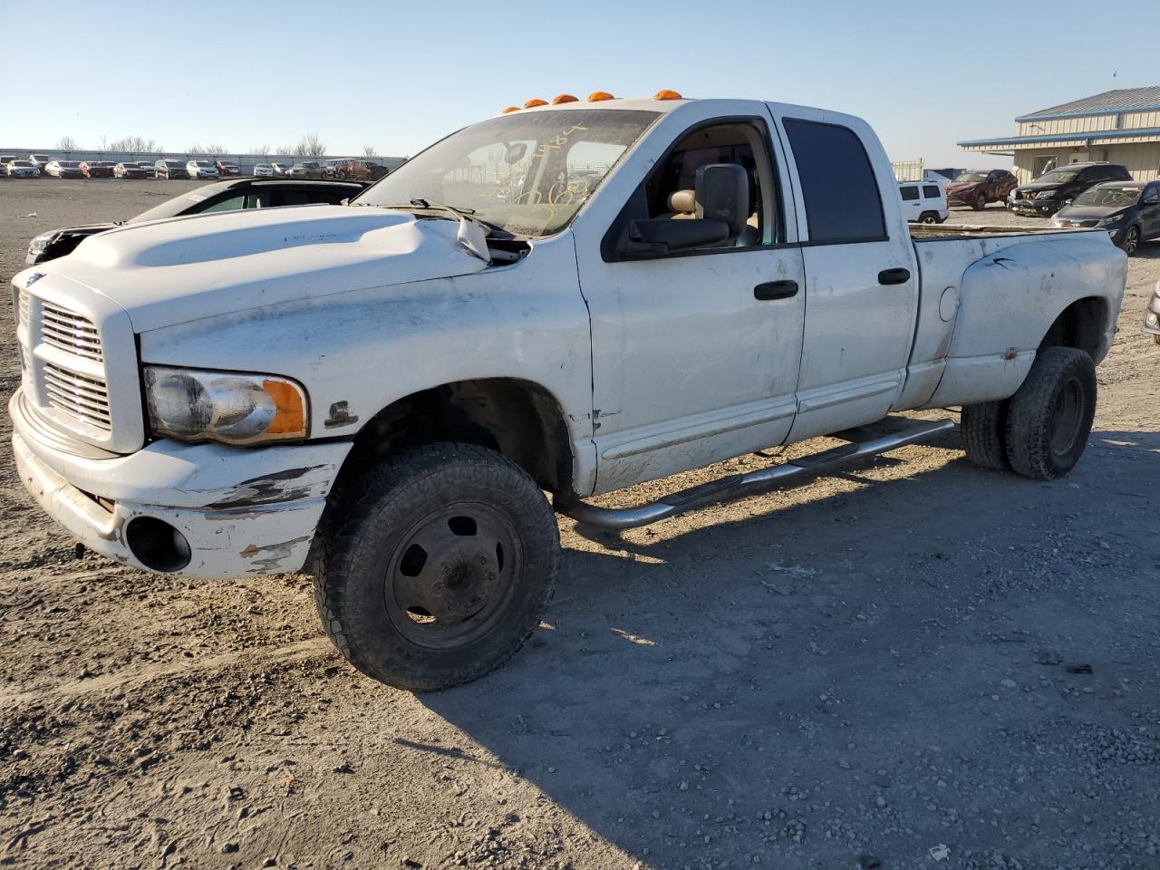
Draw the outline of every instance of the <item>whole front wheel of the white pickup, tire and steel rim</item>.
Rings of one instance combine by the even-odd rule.
[[[515,463],[473,444],[404,451],[336,506],[316,602],[331,640],[400,689],[469,682],[539,624],[559,572],[556,514]]]

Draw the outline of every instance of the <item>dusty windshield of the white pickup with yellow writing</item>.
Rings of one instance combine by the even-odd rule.
[[[472,209],[515,235],[551,235],[657,117],[629,109],[501,115],[435,143],[354,202],[411,208],[426,200]]]

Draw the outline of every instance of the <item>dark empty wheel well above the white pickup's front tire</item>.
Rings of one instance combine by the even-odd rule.
[[[355,436],[341,473],[436,441],[495,450],[552,493],[572,484],[572,449],[559,404],[538,384],[515,378],[458,380],[392,403]]]

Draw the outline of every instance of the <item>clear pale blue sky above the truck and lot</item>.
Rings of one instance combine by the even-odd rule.
[[[1160,85],[1157,28],[1132,27],[1152,2],[0,0],[0,147],[248,152],[313,132],[332,154],[401,157],[532,96],[664,87],[861,115],[896,160],[1003,165],[955,143]]]

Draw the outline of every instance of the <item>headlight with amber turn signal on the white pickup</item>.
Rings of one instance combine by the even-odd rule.
[[[179,441],[256,444],[304,438],[306,392],[287,378],[145,367],[154,435]]]

